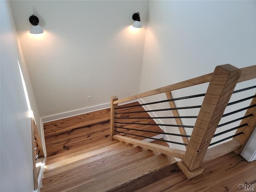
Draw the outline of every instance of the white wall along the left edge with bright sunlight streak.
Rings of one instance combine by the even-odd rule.
[[[0,7],[0,190],[31,192],[34,191],[31,124],[18,61],[39,126],[40,116],[22,58],[9,1],[0,1]]]

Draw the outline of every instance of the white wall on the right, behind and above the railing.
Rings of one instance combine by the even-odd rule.
[[[255,1],[150,1],[140,92],[213,72],[217,65],[229,63],[238,68],[254,65],[255,9]],[[253,84],[255,80],[243,86]],[[173,96],[204,93],[206,88],[207,85],[202,85],[193,90],[174,91]],[[255,90],[243,94],[254,95]],[[144,102],[152,100],[145,98]],[[200,102],[200,99],[183,100],[176,105],[191,106]],[[180,115],[197,115],[198,110],[179,112]],[[183,120],[183,124],[193,125],[193,121]]]

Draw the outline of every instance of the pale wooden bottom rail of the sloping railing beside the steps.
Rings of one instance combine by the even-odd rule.
[[[168,156],[177,157],[180,159],[182,159],[184,157],[185,151],[183,151],[183,150],[174,149],[174,148],[170,148],[170,147],[166,147],[166,146],[160,146],[160,145],[157,145],[154,143],[143,142],[140,140],[136,140],[133,138],[127,138],[127,137],[120,136],[120,135],[114,135],[113,137],[116,140],[134,144],[136,146],[140,146],[145,149],[149,149],[149,150],[153,150],[153,151],[156,151],[156,152],[159,152],[162,154],[166,154]]]

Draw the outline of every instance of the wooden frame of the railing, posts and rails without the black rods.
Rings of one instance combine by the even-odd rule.
[[[136,146],[141,146],[146,149],[155,150],[163,154],[180,158],[182,160],[177,163],[178,166],[188,179],[193,178],[203,172],[203,168],[201,167],[202,162],[212,160],[232,151],[236,152],[236,154],[240,154],[244,148],[248,138],[256,127],[256,107],[247,109],[245,116],[250,114],[250,117],[242,119],[240,126],[246,126],[243,126],[240,128],[240,130],[237,130],[236,133],[240,133],[240,135],[234,137],[233,140],[208,149],[236,84],[255,78],[256,65],[238,69],[230,64],[226,64],[217,66],[213,73],[148,92],[136,94],[128,98],[118,99],[116,96],[114,96],[111,98],[111,139],[121,140]],[[202,102],[200,112],[197,116],[191,137],[189,140],[186,137],[182,137],[183,142],[188,144],[186,151],[168,147],[163,148],[162,146],[157,146],[156,144],[147,144],[142,141],[115,135],[117,133],[115,132],[116,124],[114,119],[117,117],[115,112],[119,103],[161,93],[165,93],[167,99],[170,100],[172,99],[171,92],[173,90],[178,90],[207,82],[210,83],[204,96],[204,100]],[[174,101],[170,101],[169,104],[170,108],[176,108]],[[254,97],[250,106],[255,104],[256,98]],[[177,110],[172,110],[172,113],[174,116],[179,117]],[[184,130],[185,126],[183,127],[180,118],[176,118],[175,120],[176,123],[180,125],[179,130],[181,135],[186,135]]]

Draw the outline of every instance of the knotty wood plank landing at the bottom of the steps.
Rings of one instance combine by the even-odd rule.
[[[139,104],[133,102],[123,106],[133,106]],[[136,106],[127,109],[119,109],[118,112],[134,112],[144,111],[142,106]],[[119,122],[131,122],[131,123],[145,123],[155,124],[152,119],[138,119],[139,117],[150,117],[148,113],[131,113],[131,114],[120,114],[120,117],[134,117],[134,119],[118,119]],[[151,130],[157,132],[163,132],[159,126],[150,125],[136,125],[136,124],[118,124],[122,127]],[[55,120],[52,122],[46,122],[44,126],[44,137],[46,142],[46,153],[47,160],[51,159],[52,156],[65,156],[76,151],[80,151],[86,148],[91,148],[96,145],[104,144],[109,142],[110,136],[110,109],[98,110],[87,114],[73,116],[70,118],[64,118]],[[120,129],[121,130],[121,129]],[[134,130],[122,129],[121,134],[123,136],[136,138],[143,140],[143,137],[133,136],[131,134],[144,135],[152,137],[157,135],[156,133],[138,132]],[[159,142],[158,142],[159,143]],[[166,145],[162,142],[162,145]],[[56,156],[56,157],[57,157]],[[48,161],[49,163],[50,161]]]

